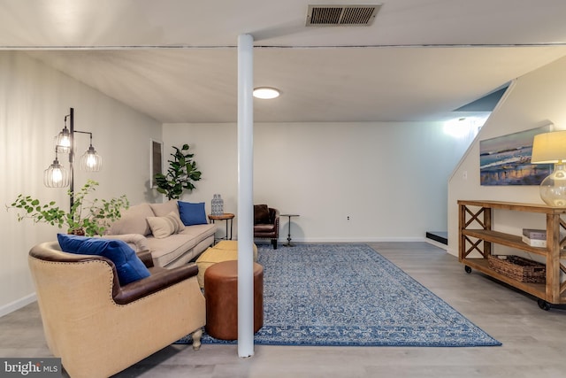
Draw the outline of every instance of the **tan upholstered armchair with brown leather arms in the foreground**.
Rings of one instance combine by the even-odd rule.
[[[205,324],[196,266],[153,266],[149,277],[120,286],[116,266],[100,256],[62,252],[57,242],[29,252],[43,330],[50,351],[74,377],[108,377]]]

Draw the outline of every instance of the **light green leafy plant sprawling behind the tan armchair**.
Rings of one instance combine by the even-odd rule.
[[[38,199],[20,194],[16,200],[6,206],[19,209],[18,220],[27,218],[34,220],[34,223],[48,223],[51,226],[63,228],[66,226],[69,234],[75,235],[103,235],[111,222],[121,217],[121,210],[129,207],[126,196],[105,199],[88,200],[88,194],[96,190],[98,182],[88,180],[87,183],[77,192],[67,193],[73,196],[73,207],[69,212],[61,210],[55,201],[48,204],[41,204]]]

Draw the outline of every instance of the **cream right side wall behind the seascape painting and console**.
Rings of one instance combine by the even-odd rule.
[[[516,79],[482,127],[448,184],[448,251],[458,254],[458,199],[543,204],[538,186],[479,185],[479,141],[541,127],[566,128],[566,58]],[[463,179],[467,172],[468,179]],[[544,217],[497,212],[495,229],[520,235],[521,228],[545,228]],[[498,247],[499,248],[499,247]],[[496,250],[497,252],[497,250]]]

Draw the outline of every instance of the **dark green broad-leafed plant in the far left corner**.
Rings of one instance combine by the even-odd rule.
[[[201,171],[196,169],[192,159],[195,154],[187,153],[188,144],[183,144],[180,149],[173,146],[173,149],[172,160],[167,160],[167,174],[156,174],[157,191],[168,199],[179,199],[183,190],[195,189],[193,182],[201,180]]]

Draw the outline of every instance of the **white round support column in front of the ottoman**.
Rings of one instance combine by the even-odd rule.
[[[238,36],[238,356],[254,355],[254,39]]]

